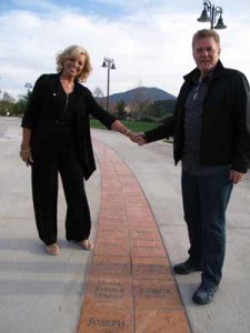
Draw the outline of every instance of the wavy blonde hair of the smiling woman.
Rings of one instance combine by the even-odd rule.
[[[83,69],[81,71],[80,75],[78,75],[78,80],[80,82],[84,82],[87,80],[87,78],[89,77],[91,70],[92,70],[92,67],[91,67],[91,63],[90,63],[89,53],[82,47],[71,46],[71,47],[68,47],[67,49],[64,49],[62,52],[59,52],[57,54],[57,72],[58,73],[62,72],[62,70],[63,70],[63,61],[67,58],[76,57],[76,56],[79,56],[79,54],[84,54],[86,56],[84,67],[83,67]]]

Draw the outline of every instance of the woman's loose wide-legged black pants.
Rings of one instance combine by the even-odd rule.
[[[57,242],[58,176],[61,175],[66,202],[66,239],[89,238],[91,219],[83,174],[73,133],[38,131],[32,138],[32,195],[39,238],[49,245]]]

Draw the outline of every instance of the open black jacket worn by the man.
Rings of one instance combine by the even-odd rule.
[[[182,158],[184,143],[186,100],[198,68],[184,77],[173,115],[159,128],[146,132],[148,142],[173,137],[176,164]],[[250,164],[250,91],[247,78],[239,71],[214,68],[203,101],[200,138],[201,165],[232,164],[231,169],[247,172]]]

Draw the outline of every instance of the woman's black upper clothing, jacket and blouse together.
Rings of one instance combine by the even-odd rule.
[[[22,119],[22,127],[36,133],[41,128],[70,128],[76,135],[79,161],[84,179],[96,170],[90,135],[90,115],[108,129],[116,118],[101,108],[88,88],[76,81],[67,94],[60,82],[60,73],[42,74],[36,82]],[[32,142],[32,137],[31,137]]]

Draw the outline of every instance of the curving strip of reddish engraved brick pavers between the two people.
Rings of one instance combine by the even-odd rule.
[[[78,333],[190,332],[163,242],[127,164],[94,142],[101,170],[96,248]]]

